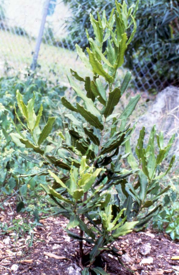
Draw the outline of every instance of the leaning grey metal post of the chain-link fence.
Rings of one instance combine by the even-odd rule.
[[[33,55],[33,61],[32,61],[32,64],[31,64],[31,69],[33,71],[35,70],[36,65],[37,65],[38,52],[40,50],[40,44],[42,42],[42,35],[43,35],[45,23],[46,23],[46,17],[47,17],[47,13],[48,13],[48,9],[49,9],[49,3],[50,3],[50,0],[46,0],[44,10],[43,10],[43,15],[42,15],[42,21],[41,21],[40,29],[39,29],[39,32],[38,32],[38,37],[37,37],[37,40],[36,40],[35,52],[34,52],[34,55]]]

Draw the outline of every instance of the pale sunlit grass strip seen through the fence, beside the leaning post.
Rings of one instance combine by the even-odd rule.
[[[10,32],[0,30],[0,49],[1,49],[1,67],[3,70],[4,63],[7,62],[12,72],[24,71],[27,66],[31,65],[33,51],[35,49],[35,40],[28,37],[15,35]],[[70,68],[78,70],[79,74],[85,76],[87,69],[81,60],[77,59],[77,54],[73,50],[58,48],[41,43],[38,64],[40,71],[49,76],[49,70],[59,78],[60,82],[68,83],[67,74]],[[78,68],[78,69],[77,69]]]

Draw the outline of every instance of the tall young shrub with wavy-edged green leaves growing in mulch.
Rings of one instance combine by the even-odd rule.
[[[79,240],[83,275],[91,272],[107,274],[100,264],[102,254],[107,251],[119,258],[114,241],[134,227],[142,228],[161,208],[157,201],[170,186],[160,188],[159,180],[174,162],[172,157],[168,169],[161,172],[161,162],[166,158],[174,136],[165,147],[163,134],[155,135],[155,126],[146,146],[143,144],[145,129],[142,128],[135,155],[132,154],[130,136],[135,125],[127,122],[140,95],[131,97],[120,113],[114,113],[131,78],[127,72],[122,84],[116,81],[127,45],[136,31],[134,17],[138,2],[128,10],[125,2],[116,1],[115,5],[109,20],[105,11],[102,18],[98,15],[98,20],[90,15],[96,37],[93,40],[86,31],[90,48],[84,53],[76,45],[79,57],[91,73],[82,78],[71,69],[72,77],[68,76],[68,79],[77,95],[76,106],[67,98],[61,98],[70,111],[66,115],[66,130],[57,132],[59,142],[55,141],[55,135],[54,140],[49,139],[55,117],[49,117],[45,127],[40,129],[42,105],[36,115],[35,94],[26,105],[19,91],[16,98],[22,119],[16,109],[15,113],[23,131],[16,128],[18,132],[11,134],[18,146],[33,149],[36,158],[41,160],[39,169],[49,183],[41,185],[58,213],[69,220],[68,235]],[[133,31],[127,37],[131,25]],[[107,43],[105,50],[103,43]],[[84,83],[85,91],[79,88],[81,85],[75,79]],[[79,233],[73,230],[76,227],[80,229]],[[84,243],[88,243],[87,249]]]

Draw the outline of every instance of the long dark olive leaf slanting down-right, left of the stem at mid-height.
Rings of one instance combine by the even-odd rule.
[[[76,103],[77,109],[79,113],[88,121],[92,126],[94,126],[97,129],[103,130],[104,126],[99,121],[98,117],[94,116],[92,113],[87,111],[82,105],[80,105],[78,102]]]

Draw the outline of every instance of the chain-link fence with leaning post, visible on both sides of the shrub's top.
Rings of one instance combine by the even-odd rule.
[[[83,65],[74,51],[75,42],[69,41],[68,17],[71,10],[63,0],[0,0],[1,74],[34,69],[37,63],[44,74],[52,72],[62,82],[67,82],[70,68],[78,68],[83,75]],[[162,50],[157,47],[153,57]],[[151,53],[145,53],[141,62],[133,50],[133,57],[131,84],[135,88],[161,90],[167,85],[157,72],[165,68],[156,68]]]

